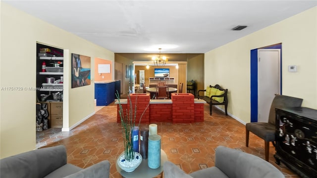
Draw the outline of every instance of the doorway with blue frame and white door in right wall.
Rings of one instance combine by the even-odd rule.
[[[251,122],[267,122],[272,100],[281,93],[281,44],[251,50]]]

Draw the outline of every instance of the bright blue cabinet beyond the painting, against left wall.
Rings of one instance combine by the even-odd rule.
[[[107,106],[114,102],[114,84],[110,83],[95,83],[95,99],[97,106]]]

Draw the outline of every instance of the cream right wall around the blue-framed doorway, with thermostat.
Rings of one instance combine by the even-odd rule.
[[[317,7],[205,54],[205,87],[228,88],[228,113],[250,122],[250,51],[282,43],[282,94],[317,109]],[[288,72],[297,65],[298,72]],[[212,76],[212,77],[207,77]]]

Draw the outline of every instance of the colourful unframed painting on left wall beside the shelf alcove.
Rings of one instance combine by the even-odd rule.
[[[90,57],[72,53],[71,60],[71,88],[90,85]]]

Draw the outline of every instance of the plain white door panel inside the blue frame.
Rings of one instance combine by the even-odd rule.
[[[258,122],[268,122],[275,94],[280,94],[280,49],[258,50]]]

